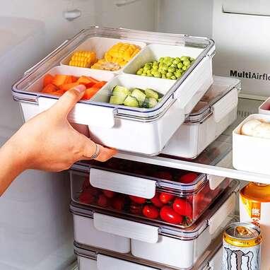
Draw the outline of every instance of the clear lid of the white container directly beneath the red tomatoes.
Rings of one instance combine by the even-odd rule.
[[[177,237],[181,240],[193,240],[207,228],[209,225],[209,219],[213,216],[214,213],[222,204],[229,198],[229,196],[236,192],[239,187],[239,183],[236,180],[231,180],[230,185],[225,189],[223,194],[218,196],[215,201],[215,204],[211,204],[209,209],[207,209],[204,214],[191,226],[188,228],[176,228],[174,225],[159,225],[155,223],[155,221],[146,221],[137,218],[136,216],[129,218],[130,221],[139,221],[140,223],[145,223],[148,225],[153,225],[155,227],[159,227],[160,235],[167,235],[169,237]],[[112,213],[111,211],[106,211],[103,209],[94,210],[89,206],[81,206],[79,204],[71,202],[70,205],[71,213],[74,213],[78,216],[86,216],[87,218],[93,218],[93,213],[101,213],[107,216],[115,216],[117,218],[123,218],[121,214]]]

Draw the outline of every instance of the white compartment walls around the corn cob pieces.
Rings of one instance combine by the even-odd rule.
[[[109,37],[90,37],[85,42],[83,42],[81,45],[79,45],[76,49],[74,49],[74,51],[71,52],[67,57],[65,57],[61,61],[61,65],[69,66],[69,61],[70,61],[72,55],[78,51],[95,52],[98,59],[103,59],[105,52],[107,52],[108,49],[110,49],[113,45],[116,45],[119,42],[134,44],[136,46],[139,46],[141,49],[146,47],[146,43],[133,41],[133,40],[120,40],[117,38],[109,38]],[[121,73],[122,69],[119,69],[115,72]]]

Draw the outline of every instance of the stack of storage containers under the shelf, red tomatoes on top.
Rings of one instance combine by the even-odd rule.
[[[76,245],[148,267],[192,268],[235,211],[235,180],[211,188],[204,174],[119,158],[70,175]]]

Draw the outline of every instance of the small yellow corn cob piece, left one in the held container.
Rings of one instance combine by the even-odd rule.
[[[97,57],[95,52],[78,51],[72,55],[69,66],[90,68],[96,61]]]

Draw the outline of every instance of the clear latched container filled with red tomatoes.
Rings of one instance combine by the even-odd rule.
[[[74,202],[181,228],[192,225],[230,182],[118,158],[91,162],[85,171],[70,171]]]

